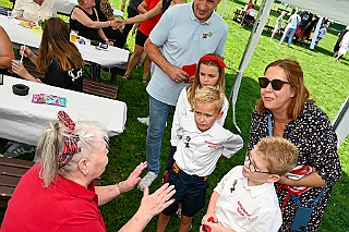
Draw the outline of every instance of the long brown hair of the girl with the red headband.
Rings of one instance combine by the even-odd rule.
[[[212,57],[217,57],[220,60],[221,57],[219,54],[216,53],[207,53],[205,56],[212,56]],[[205,57],[203,56],[203,57]],[[208,66],[217,66],[218,68],[218,72],[219,72],[219,77],[216,84],[216,87],[219,88],[220,90],[225,91],[226,88],[226,84],[225,84],[225,69],[221,69],[218,64],[217,61],[215,60],[204,60],[204,61],[198,61],[197,63],[197,68],[196,68],[196,72],[195,72],[195,76],[194,76],[194,81],[193,84],[186,87],[186,94],[188,94],[188,102],[190,105],[192,105],[194,97],[195,97],[195,93],[197,88],[201,88],[201,84],[200,84],[200,69],[201,69],[201,64],[206,64]]]

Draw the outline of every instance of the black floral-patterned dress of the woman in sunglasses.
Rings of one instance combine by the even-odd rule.
[[[249,138],[249,149],[251,150],[261,138],[268,136],[268,111],[258,114],[253,111],[251,119],[251,131]],[[272,124],[274,120],[272,117]],[[304,111],[296,120],[290,121],[284,131],[284,138],[292,142],[299,149],[298,166],[305,164],[315,169],[318,175],[326,182],[326,191],[313,208],[306,231],[316,231],[325,208],[329,202],[332,186],[340,180],[341,167],[337,154],[337,135],[327,115],[315,105],[305,102]],[[276,183],[276,188],[279,184]],[[310,207],[322,187],[311,187],[305,193],[299,195],[303,207]],[[292,222],[297,210],[297,205],[288,198],[288,192],[280,188],[277,192],[280,206],[286,200],[282,210],[282,225],[279,231],[292,231]]]

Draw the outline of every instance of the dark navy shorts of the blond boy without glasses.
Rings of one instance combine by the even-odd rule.
[[[182,215],[193,217],[202,208],[205,207],[206,190],[208,182],[204,178],[197,175],[189,175],[183,171],[174,173],[172,169],[169,170],[170,175],[168,182],[174,185],[176,194],[174,203],[164,209],[163,213],[167,216],[174,215],[178,209],[178,204],[182,204]]]

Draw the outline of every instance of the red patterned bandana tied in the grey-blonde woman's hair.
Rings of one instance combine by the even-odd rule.
[[[62,154],[58,157],[58,167],[63,168],[75,154],[81,151],[81,148],[77,147],[79,135],[74,135],[75,123],[73,120],[63,111],[57,113],[58,120],[67,127],[63,136],[64,144]]]

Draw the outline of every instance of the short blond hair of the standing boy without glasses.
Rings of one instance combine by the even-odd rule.
[[[192,108],[194,109],[195,103],[213,103],[216,106],[218,111],[221,111],[225,102],[225,94],[221,89],[213,86],[204,86],[197,90],[193,100]]]

